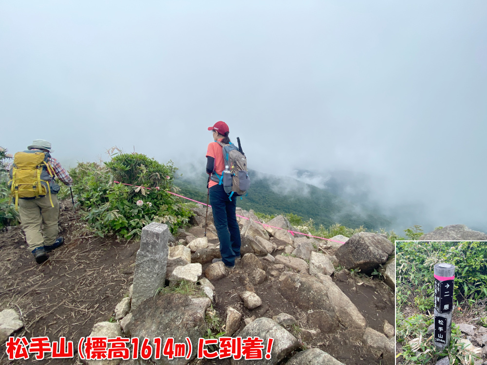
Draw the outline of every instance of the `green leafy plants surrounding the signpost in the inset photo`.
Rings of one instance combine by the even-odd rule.
[[[406,233],[417,237],[418,226]],[[453,325],[450,346],[441,354],[427,335],[433,319],[433,267],[439,262],[455,265],[453,300],[457,309],[485,316],[479,303],[487,298],[486,254],[482,242],[396,242],[396,338],[403,346],[405,364],[435,364],[440,355],[447,354],[450,364],[473,364]]]

